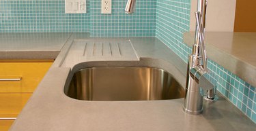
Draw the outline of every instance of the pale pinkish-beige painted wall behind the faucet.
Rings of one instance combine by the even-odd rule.
[[[253,1],[253,0],[252,0]],[[191,0],[190,31],[195,31],[197,0]],[[233,31],[236,0],[208,0],[206,31]]]

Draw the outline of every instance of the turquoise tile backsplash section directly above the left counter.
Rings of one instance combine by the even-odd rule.
[[[0,33],[89,32],[89,24],[89,13],[65,14],[65,0],[0,0]]]

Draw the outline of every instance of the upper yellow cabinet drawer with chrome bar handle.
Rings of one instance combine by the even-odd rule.
[[[0,60],[0,93],[33,92],[53,60],[41,61],[1,61]],[[21,78],[19,81],[16,78]],[[16,79],[16,81],[8,81]]]

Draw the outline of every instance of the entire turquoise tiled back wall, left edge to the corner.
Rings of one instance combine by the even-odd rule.
[[[87,0],[87,14],[65,14],[65,0],[0,0],[0,33],[83,32],[95,37],[155,36],[156,0],[112,1],[112,14],[101,14],[101,0]]]

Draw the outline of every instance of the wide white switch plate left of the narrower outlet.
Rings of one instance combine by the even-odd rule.
[[[66,14],[81,14],[86,12],[86,0],[65,0]]]

